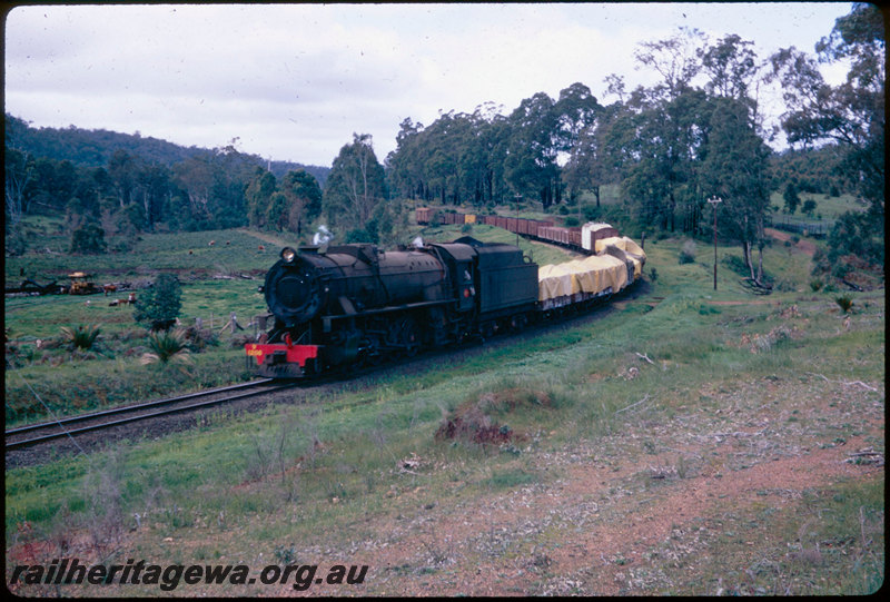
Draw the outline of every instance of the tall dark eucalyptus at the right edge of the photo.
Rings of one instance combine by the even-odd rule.
[[[771,57],[772,73],[782,85],[788,107],[782,127],[789,142],[834,142],[844,149],[841,168],[868,204],[867,211],[838,220],[835,231],[829,236],[830,251],[823,267],[833,265],[842,277],[848,268],[838,260],[853,250],[883,265],[887,73],[881,10],[874,4],[854,3],[815,50],[818,59],[793,47],[780,50]],[[850,68],[846,81],[828,85],[817,61],[847,61]]]

